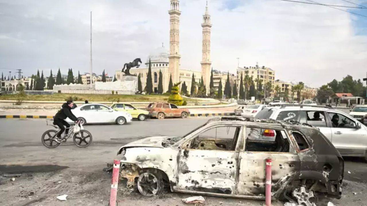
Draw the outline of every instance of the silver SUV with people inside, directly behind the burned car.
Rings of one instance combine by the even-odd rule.
[[[350,115],[323,106],[284,105],[261,110],[255,118],[297,121],[317,127],[343,156],[367,161],[367,127]]]

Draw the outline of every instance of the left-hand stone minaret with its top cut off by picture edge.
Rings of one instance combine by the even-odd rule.
[[[170,14],[170,55],[168,56],[168,71],[172,74],[172,81],[177,83],[179,82],[178,69],[181,58],[179,54],[179,23],[181,14],[181,11],[179,11],[179,0],[171,0],[171,10],[168,11],[168,14]]]

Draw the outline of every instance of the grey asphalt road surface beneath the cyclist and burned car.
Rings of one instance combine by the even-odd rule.
[[[204,124],[210,118],[188,118],[188,119],[148,119],[146,121],[133,121],[127,125],[86,125],[84,128],[89,130],[93,135],[93,143],[87,148],[78,148],[69,139],[65,144],[48,149],[41,143],[41,135],[47,129],[52,129],[46,125],[45,120],[41,119],[0,119],[0,173],[23,173],[31,174],[31,178],[20,177],[19,182],[15,181],[10,184],[8,179],[0,179],[6,181],[6,189],[0,189],[0,205],[63,205],[55,202],[54,197],[61,192],[71,192],[71,185],[74,195],[68,205],[106,205],[109,192],[109,174],[103,173],[101,170],[106,163],[111,163],[116,157],[117,150],[124,144],[141,139],[148,136],[181,136],[188,133],[190,130]],[[9,166],[13,165],[13,166]],[[50,166],[53,165],[53,166]],[[43,173],[40,173],[43,172]],[[350,173],[349,173],[350,172]],[[43,175],[46,173],[45,175]],[[65,177],[68,176],[68,177]],[[78,180],[73,180],[74,177]],[[84,179],[83,179],[84,178]],[[70,180],[68,180],[70,179]],[[80,180],[83,179],[83,180]],[[60,188],[57,186],[58,180],[66,182],[68,187]],[[101,183],[97,181],[101,181]],[[357,202],[349,203],[348,201],[338,202],[339,205],[349,203],[349,205],[363,205],[359,201],[366,200],[364,193],[367,183],[367,163],[359,158],[345,159],[345,180],[350,185],[351,189],[344,190],[344,200],[350,198],[350,201]],[[91,183],[92,181],[92,183]],[[102,186],[101,186],[101,185]],[[356,188],[357,191],[352,191]],[[22,187],[19,189],[15,186]],[[44,189],[42,188],[50,188]],[[66,187],[66,186],[65,186]],[[82,188],[80,188],[82,187]],[[1,187],[0,187],[1,188]],[[57,189],[58,188],[58,189]],[[84,194],[87,189],[90,193]],[[52,192],[52,198],[47,192]],[[39,195],[35,196],[24,195],[29,191],[37,191]],[[46,192],[45,192],[46,191]],[[80,191],[80,192],[78,192]],[[354,194],[356,192],[356,194]],[[359,194],[359,192],[361,192]],[[46,194],[46,196],[45,196]],[[90,197],[88,198],[88,195]],[[354,195],[354,196],[353,196]],[[167,199],[152,199],[154,205],[178,205],[177,199],[181,198],[181,194],[168,195]],[[183,197],[187,197],[186,195]],[[19,204],[19,198],[22,204]],[[44,198],[44,199],[42,199]],[[80,203],[88,199],[88,203]],[[134,200],[136,205],[150,205],[150,201],[144,202],[140,200],[138,194],[124,198],[124,200]],[[208,205],[220,205],[218,202],[224,202],[227,205],[241,205],[241,202],[246,202],[248,205],[259,205],[259,201],[247,201],[231,198],[214,198],[206,197]],[[3,200],[1,200],[3,199]],[[137,200],[139,199],[139,201]],[[31,202],[33,201],[33,202]],[[101,202],[99,202],[101,201]],[[215,204],[214,204],[215,203]],[[181,203],[179,203],[181,204]],[[282,205],[273,204],[273,205]]]

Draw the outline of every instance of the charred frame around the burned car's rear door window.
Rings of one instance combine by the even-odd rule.
[[[292,138],[294,137],[290,137],[288,131],[286,129],[283,128],[275,128],[275,127],[264,127],[264,126],[255,126],[255,125],[244,125],[243,131],[246,131],[247,128],[258,128],[258,129],[272,129],[272,130],[279,130],[282,134],[281,135],[286,135],[288,142],[290,144],[290,147],[293,147],[295,152],[266,152],[266,153],[281,153],[281,154],[297,154],[299,151],[297,142],[292,141]],[[265,151],[245,151],[246,149],[246,132],[243,132],[243,138],[241,141],[241,147],[240,147],[240,152],[252,152],[252,153],[264,153]],[[274,141],[275,141],[275,137],[274,137]],[[297,147],[295,147],[297,146]]]

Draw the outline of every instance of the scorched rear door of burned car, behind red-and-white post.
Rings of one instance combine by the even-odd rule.
[[[245,131],[244,146],[239,155],[237,192],[238,195],[265,195],[265,160],[272,159],[274,187],[281,178],[299,170],[299,157],[285,130],[247,127]],[[265,132],[273,132],[274,135],[266,135]],[[283,142],[283,148],[279,148],[282,147],[279,141]]]

